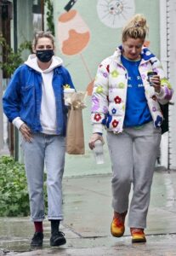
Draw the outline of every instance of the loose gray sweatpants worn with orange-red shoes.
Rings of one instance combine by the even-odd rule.
[[[107,132],[112,165],[112,207],[116,212],[128,210],[128,195],[133,183],[133,197],[128,212],[128,226],[146,227],[150,203],[150,186],[161,129],[150,122],[140,129],[126,128],[120,134]]]

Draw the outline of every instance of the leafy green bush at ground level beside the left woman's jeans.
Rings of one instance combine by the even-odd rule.
[[[11,156],[2,156],[0,173],[0,216],[28,216],[30,208],[25,166]],[[46,194],[46,186],[44,186],[47,206]]]

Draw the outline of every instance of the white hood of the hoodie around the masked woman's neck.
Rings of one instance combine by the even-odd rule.
[[[60,57],[53,56],[52,57],[51,65],[47,69],[42,70],[40,67],[38,67],[37,56],[35,54],[32,54],[32,55],[29,55],[27,61],[25,61],[25,64],[28,67],[31,67],[32,69],[36,70],[39,73],[49,73],[52,70],[54,70],[55,67],[62,66],[63,61],[62,61],[62,59]]]

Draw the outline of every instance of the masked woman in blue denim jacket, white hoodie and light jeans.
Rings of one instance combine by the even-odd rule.
[[[43,245],[43,169],[47,170],[48,220],[51,246],[65,244],[59,230],[62,213],[62,177],[65,166],[65,129],[67,108],[64,87],[74,89],[63,61],[54,56],[54,37],[37,32],[34,54],[16,69],[3,96],[3,110],[21,132],[26,177],[30,195],[31,220],[35,233],[31,246]]]

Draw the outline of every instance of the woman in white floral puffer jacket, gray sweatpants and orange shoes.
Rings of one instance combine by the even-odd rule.
[[[148,27],[143,15],[135,15],[123,28],[122,46],[101,62],[92,96],[93,135],[89,147],[103,141],[103,127],[112,164],[112,236],[120,237],[128,226],[133,242],[145,242],[144,229],[150,203],[150,186],[161,142],[163,121],[160,104],[173,90],[160,61],[143,47]],[[148,72],[156,75],[148,81]],[[160,104],[159,104],[160,103]],[[133,198],[128,211],[128,195]]]

